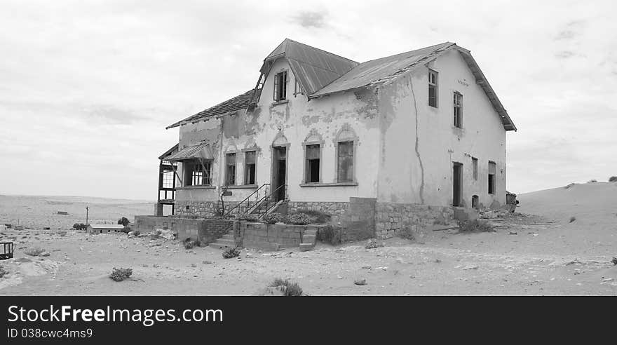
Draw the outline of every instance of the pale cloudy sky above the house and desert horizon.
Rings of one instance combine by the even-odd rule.
[[[452,41],[518,128],[507,189],[617,175],[615,1],[0,0],[0,194],[156,200],[165,127],[285,38],[363,62]]]

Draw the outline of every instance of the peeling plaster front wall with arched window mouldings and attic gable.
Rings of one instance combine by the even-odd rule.
[[[288,102],[273,105],[273,76],[287,69]],[[236,174],[238,184],[243,183],[243,149],[257,149],[257,185],[271,183],[272,144],[279,136],[284,136],[289,146],[287,154],[287,198],[291,201],[349,201],[349,197],[376,197],[379,156],[379,116],[377,103],[370,107],[369,92],[360,95],[353,92],[322,97],[307,101],[306,96],[294,97],[294,76],[287,61],[280,59],[273,65],[262,90],[262,96],[255,111],[245,114],[224,116],[220,120],[200,121],[180,127],[180,143],[197,144],[207,139],[217,141],[222,135],[221,145],[217,146],[212,165],[213,184],[219,185],[219,176],[224,174],[224,166],[219,164],[222,155],[236,152]],[[374,94],[373,94],[374,95]],[[233,122],[235,124],[230,124]],[[339,130],[348,126],[359,138],[355,146],[355,180],[357,186],[300,187],[304,177],[304,151],[302,142],[311,130],[323,138],[321,180],[323,183],[336,182],[336,146],[334,140]],[[234,129],[235,128],[235,129]],[[182,170],[182,168],[180,169]],[[182,172],[181,172],[182,173]],[[181,175],[183,176],[183,175]],[[226,201],[241,201],[255,188],[233,189],[233,196]],[[184,189],[177,192],[179,201],[214,201],[218,189]]]

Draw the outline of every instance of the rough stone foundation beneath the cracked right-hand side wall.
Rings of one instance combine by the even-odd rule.
[[[375,215],[376,236],[390,238],[402,229],[410,229],[417,237],[434,224],[445,224],[454,217],[454,210],[446,206],[410,203],[377,203]]]

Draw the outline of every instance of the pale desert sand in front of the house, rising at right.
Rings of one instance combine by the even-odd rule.
[[[362,241],[308,252],[242,250],[238,259],[149,236],[4,231],[15,259],[0,262],[9,272],[0,295],[253,295],[274,278],[308,295],[617,295],[617,184],[518,199],[522,215],[491,219],[495,232],[431,231],[376,249]],[[50,255],[28,257],[33,246]],[[114,282],[113,267],[130,267],[134,279]]]

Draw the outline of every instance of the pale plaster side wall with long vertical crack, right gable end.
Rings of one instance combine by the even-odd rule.
[[[452,162],[459,162],[463,205],[470,207],[474,194],[485,206],[505,203],[506,130],[499,115],[458,52],[445,53],[430,68],[439,73],[437,109],[428,105],[426,67],[379,90],[378,201],[452,205]],[[453,126],[454,91],[463,95],[462,129]],[[477,181],[472,156],[478,158]],[[489,161],[496,163],[494,195],[488,194]]]

